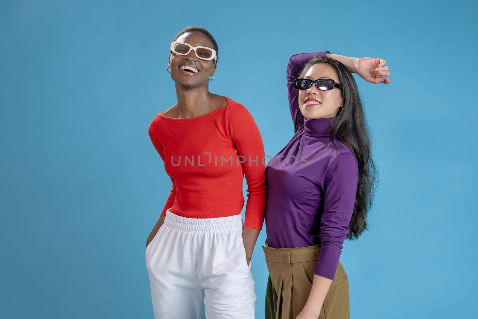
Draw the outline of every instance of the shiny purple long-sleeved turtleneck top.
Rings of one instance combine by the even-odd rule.
[[[295,134],[266,167],[269,193],[267,243],[272,248],[320,245],[315,275],[334,279],[357,192],[358,164],[350,149],[330,142],[335,120],[304,119],[293,81],[320,53],[292,55],[287,66],[289,106]]]

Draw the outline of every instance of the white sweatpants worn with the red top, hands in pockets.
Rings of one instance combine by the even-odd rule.
[[[146,248],[155,319],[254,319],[254,278],[241,215],[185,218],[166,211]]]

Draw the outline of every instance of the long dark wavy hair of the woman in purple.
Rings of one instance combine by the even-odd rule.
[[[367,230],[367,213],[371,209],[373,196],[377,188],[377,166],[371,157],[371,142],[369,126],[365,119],[362,101],[354,77],[347,66],[328,56],[312,58],[299,74],[304,77],[307,70],[318,63],[332,66],[337,72],[340,84],[343,106],[335,121],[330,126],[330,140],[337,149],[335,140],[344,143],[357,158],[359,164],[359,181],[355,196],[354,211],[348,225],[350,232],[347,238],[357,239]]]

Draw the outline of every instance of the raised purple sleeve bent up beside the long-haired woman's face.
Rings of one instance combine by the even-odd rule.
[[[294,80],[310,59],[317,55],[326,55],[326,53],[328,52],[297,53],[289,58],[289,63],[287,64],[287,92],[289,108],[294,123],[294,132],[299,131],[304,126],[304,115],[299,110],[299,91],[294,88]]]

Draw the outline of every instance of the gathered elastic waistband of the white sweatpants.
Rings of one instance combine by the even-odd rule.
[[[221,232],[242,230],[242,215],[216,218],[188,218],[173,214],[166,210],[164,225],[179,231],[187,232]]]

